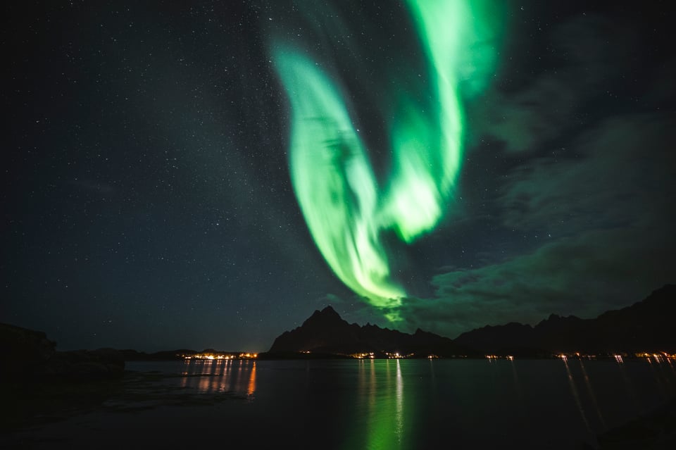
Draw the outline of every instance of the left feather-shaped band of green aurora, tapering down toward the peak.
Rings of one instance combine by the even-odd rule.
[[[291,100],[291,175],[315,243],[334,273],[375,306],[399,304],[378,233],[378,189],[337,88],[313,61],[278,48],[275,63]]]

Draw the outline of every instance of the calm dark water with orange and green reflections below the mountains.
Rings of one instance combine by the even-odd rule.
[[[579,449],[676,394],[673,362],[128,363],[101,407],[13,436],[34,448]]]

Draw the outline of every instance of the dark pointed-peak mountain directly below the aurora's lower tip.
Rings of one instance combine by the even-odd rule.
[[[361,356],[387,358],[406,356],[427,358],[475,356],[476,352],[458,346],[451,339],[416,330],[413,335],[380,328],[377,325],[349,324],[331,306],[315,311],[303,325],[282,333],[265,354],[258,358],[326,358]]]

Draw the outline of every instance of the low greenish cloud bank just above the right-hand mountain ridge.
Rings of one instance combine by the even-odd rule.
[[[406,299],[410,328],[449,337],[483,325],[537,323],[551,313],[592,318],[674,280],[673,246],[650,230],[588,232],[503,263],[432,279],[432,299]]]

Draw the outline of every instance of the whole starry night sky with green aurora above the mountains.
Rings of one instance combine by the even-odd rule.
[[[453,338],[675,282],[669,3],[414,4],[5,4],[0,321],[264,351],[327,304]]]

